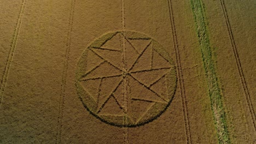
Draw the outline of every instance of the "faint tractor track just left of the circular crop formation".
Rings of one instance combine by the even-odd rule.
[[[69,55],[70,55],[70,49],[71,49],[71,33],[72,33],[72,29],[73,29],[74,7],[75,7],[75,0],[72,0],[71,1],[71,10],[70,10],[70,14],[69,14],[65,62],[64,62],[64,67],[63,67],[63,71],[62,71],[59,116],[58,116],[57,134],[56,134],[55,143],[61,143],[61,139],[62,139],[63,107],[65,105],[65,96],[66,96],[66,81],[67,81],[68,61],[69,61]]]

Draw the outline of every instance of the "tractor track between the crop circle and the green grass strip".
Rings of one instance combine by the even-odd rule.
[[[173,16],[173,8],[171,0],[167,0],[168,2],[168,11],[170,15],[170,22],[171,22],[171,28],[172,28],[172,38],[173,38],[173,45],[175,48],[175,56],[176,56],[176,64],[177,64],[177,76],[179,81],[179,88],[180,93],[182,97],[182,106],[183,106],[183,117],[184,117],[184,124],[185,124],[185,133],[186,133],[186,140],[187,143],[191,143],[191,136],[190,136],[190,126],[189,126],[189,119],[188,119],[188,107],[187,107],[187,100],[185,97],[185,87],[183,82],[183,74],[182,74],[182,67],[181,67],[181,60],[179,56],[179,46],[178,46],[178,40],[176,35],[176,28],[174,23],[174,16]]]

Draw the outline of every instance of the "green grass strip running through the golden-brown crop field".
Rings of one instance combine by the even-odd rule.
[[[226,126],[225,112],[222,104],[222,95],[218,85],[218,78],[212,61],[210,40],[207,34],[205,15],[201,0],[190,0],[196,22],[196,32],[202,53],[203,68],[205,69],[208,93],[217,130],[219,143],[230,143],[228,128]]]

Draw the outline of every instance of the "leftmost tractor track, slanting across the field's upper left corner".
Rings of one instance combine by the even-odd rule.
[[[25,8],[26,8],[26,2],[27,2],[27,0],[23,0],[22,4],[21,4],[20,14],[19,14],[18,22],[16,23],[13,42],[11,44],[11,49],[10,49],[10,52],[9,52],[9,56],[8,56],[8,59],[7,59],[7,63],[5,65],[3,80],[1,82],[1,87],[0,87],[0,106],[1,106],[2,101],[3,101],[4,88],[5,88],[5,85],[7,83],[7,78],[8,78],[8,75],[9,75],[11,62],[13,61],[13,55],[14,55],[14,52],[15,52],[15,49],[16,49],[16,45],[17,45],[17,41],[18,41],[18,37],[19,37],[19,33],[20,33],[22,16],[24,15],[24,11],[25,11]]]

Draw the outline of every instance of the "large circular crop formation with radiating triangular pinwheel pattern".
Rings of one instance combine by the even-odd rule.
[[[102,122],[136,127],[170,105],[176,71],[164,48],[147,35],[121,31],[95,40],[78,63],[80,100]]]

